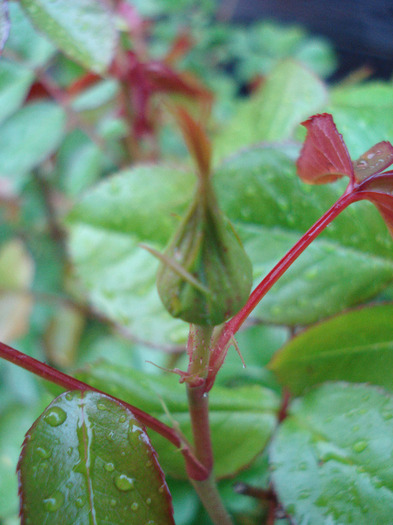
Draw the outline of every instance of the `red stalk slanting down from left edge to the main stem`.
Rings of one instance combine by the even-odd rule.
[[[52,383],[55,383],[56,385],[65,388],[66,390],[80,390],[82,392],[86,390],[92,390],[94,392],[99,392],[100,394],[109,395],[103,392],[102,390],[98,390],[97,388],[94,388],[88,385],[87,383],[84,383],[83,381],[79,381],[74,377],[71,377],[67,374],[63,374],[63,372],[59,372],[59,370],[56,370],[55,368],[52,368],[51,366],[46,365],[45,363],[42,363],[37,359],[34,359],[34,357],[30,357],[26,354],[23,354],[22,352],[15,350],[15,348],[12,348],[11,346],[8,346],[1,342],[0,357],[6,359],[7,361],[10,361],[11,363],[14,363],[17,366],[20,366],[21,368],[24,368],[25,370],[28,370],[29,372],[33,372],[33,374],[36,374],[37,376],[42,377],[47,381],[51,381]],[[174,429],[168,427],[167,425],[154,418],[153,416],[150,416],[146,412],[143,412],[143,410],[140,410],[139,408],[130,405],[129,403],[126,403],[121,399],[118,399],[114,396],[109,397],[112,397],[113,399],[127,407],[129,410],[132,411],[132,413],[139,419],[139,421],[142,424],[144,424],[151,430],[154,430],[155,432],[166,438],[168,441],[170,441],[173,445],[175,445],[175,447],[179,448],[184,456],[187,473],[190,476],[190,478],[195,479],[197,481],[201,481],[208,477],[209,473],[207,472],[206,468],[195,458],[187,444],[180,439],[180,437]]]

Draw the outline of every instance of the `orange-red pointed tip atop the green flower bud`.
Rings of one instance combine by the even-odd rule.
[[[198,166],[200,175],[208,177],[210,175],[212,152],[210,141],[203,127],[181,107],[175,108],[173,113],[183,133],[188,150]]]

